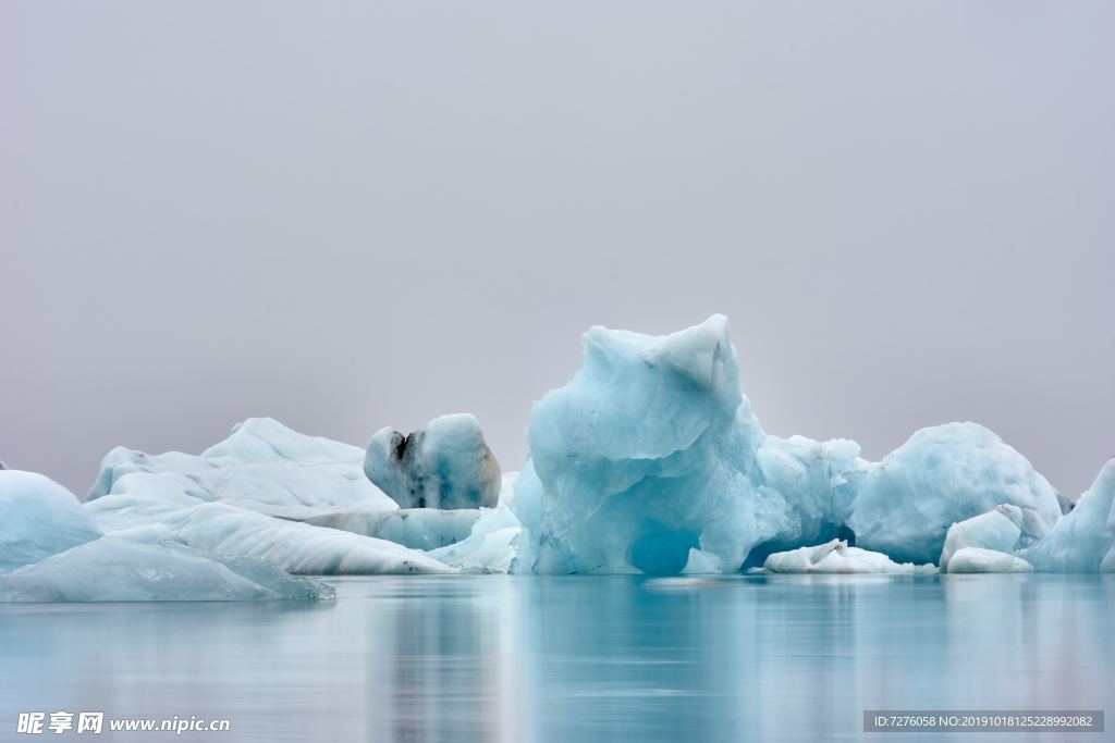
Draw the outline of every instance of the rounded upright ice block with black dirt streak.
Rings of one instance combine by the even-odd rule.
[[[408,436],[380,429],[363,471],[403,508],[494,507],[500,497],[500,463],[468,413],[435,418]]]

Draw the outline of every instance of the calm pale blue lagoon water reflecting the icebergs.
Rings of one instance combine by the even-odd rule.
[[[322,605],[0,605],[0,740],[35,740],[28,711],[231,722],[48,740],[1115,736],[862,732],[865,708],[1115,710],[1109,576],[333,583]]]

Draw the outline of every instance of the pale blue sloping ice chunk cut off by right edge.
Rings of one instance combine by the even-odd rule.
[[[1053,530],[1021,556],[1036,570],[1048,573],[1095,573],[1113,569],[1115,556],[1115,458],[1096,476],[1076,507]]]

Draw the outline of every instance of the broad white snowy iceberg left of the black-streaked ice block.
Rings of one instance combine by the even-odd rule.
[[[365,478],[362,449],[254,418],[197,457],[114,449],[85,512],[105,532],[158,526],[159,538],[294,574],[454,571],[386,539],[287,520],[397,508]]]

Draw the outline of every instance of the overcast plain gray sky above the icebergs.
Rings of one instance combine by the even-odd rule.
[[[0,459],[472,411],[730,317],[766,429],[1115,453],[1107,2],[0,0]]]

